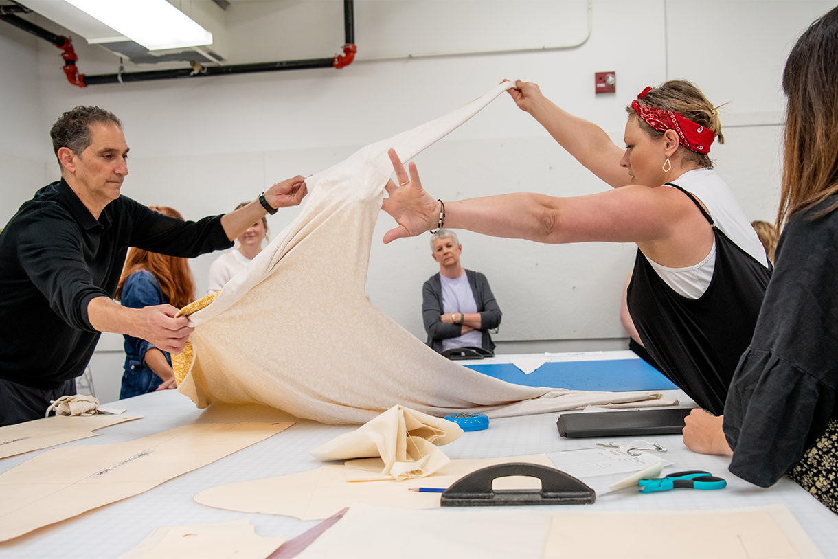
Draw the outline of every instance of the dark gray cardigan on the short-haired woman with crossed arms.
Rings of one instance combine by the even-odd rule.
[[[500,307],[494,300],[492,289],[486,277],[480,272],[466,270],[468,285],[472,288],[474,302],[480,313],[480,332],[483,334],[483,349],[494,351],[494,343],[489,335],[489,329],[496,329],[500,324]],[[438,352],[442,352],[442,340],[456,338],[462,328],[459,324],[442,322],[442,282],[439,274],[435,274],[422,286],[422,319],[427,332],[427,344]]]

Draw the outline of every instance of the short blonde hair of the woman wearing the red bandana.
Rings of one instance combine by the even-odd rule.
[[[722,135],[722,122],[719,120],[718,111],[716,111],[717,107],[714,107],[710,101],[707,101],[706,96],[701,93],[701,90],[689,81],[667,81],[659,87],[653,87],[638,102],[641,105],[651,106],[661,111],[677,112],[680,116],[689,118],[692,122],[713,131],[713,134],[718,137],[719,143],[725,142],[725,137]],[[627,106],[626,112],[629,113],[629,118],[636,118],[640,128],[653,139],[656,140],[664,135],[664,132],[655,130],[640,118],[632,106]],[[684,147],[679,146],[679,148]],[[713,167],[713,162],[706,153],[696,153],[687,148],[680,151],[686,161],[696,163],[699,167]]]

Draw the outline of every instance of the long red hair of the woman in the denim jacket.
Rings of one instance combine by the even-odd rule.
[[[178,210],[173,210],[168,206],[148,207],[159,214],[184,220],[184,216],[180,215]],[[195,300],[195,281],[186,258],[143,251],[136,246],[132,246],[131,251],[128,251],[125,267],[122,268],[122,276],[119,277],[119,284],[116,286],[116,299],[122,295],[122,287],[128,276],[142,270],[152,272],[163,295],[168,299],[168,304],[173,307],[184,308]]]

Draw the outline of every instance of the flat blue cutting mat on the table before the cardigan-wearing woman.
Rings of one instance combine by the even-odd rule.
[[[511,363],[461,364],[484,375],[524,386],[613,392],[678,388],[642,359],[547,362],[529,375]]]

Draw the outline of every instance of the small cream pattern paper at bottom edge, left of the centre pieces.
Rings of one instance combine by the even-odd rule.
[[[265,559],[287,540],[256,536],[246,518],[215,524],[167,526],[149,534],[118,559]]]

